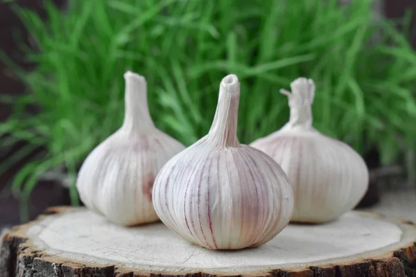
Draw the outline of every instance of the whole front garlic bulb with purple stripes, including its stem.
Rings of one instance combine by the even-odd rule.
[[[153,204],[166,226],[208,249],[256,247],[288,224],[293,191],[275,161],[236,137],[240,83],[220,83],[209,133],[160,170]]]

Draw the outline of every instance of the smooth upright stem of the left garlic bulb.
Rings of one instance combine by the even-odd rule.
[[[147,102],[146,79],[132,71],[124,73],[125,79],[125,115],[123,129],[135,132],[154,128]]]

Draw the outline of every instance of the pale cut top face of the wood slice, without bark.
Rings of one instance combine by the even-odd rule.
[[[48,217],[26,232],[35,247],[88,262],[114,260],[137,270],[244,271],[354,256],[400,242],[391,222],[349,213],[324,225],[289,225],[272,241],[243,251],[209,251],[189,244],[164,224],[126,229],[84,209]],[[53,251],[51,249],[53,247]],[[175,255],[172,255],[175,253]]]

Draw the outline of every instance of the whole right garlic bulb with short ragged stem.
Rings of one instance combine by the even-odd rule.
[[[292,222],[328,222],[351,210],[364,196],[368,170],[349,145],[312,127],[313,80],[298,78],[288,96],[290,120],[250,145],[270,155],[288,175],[295,195]]]

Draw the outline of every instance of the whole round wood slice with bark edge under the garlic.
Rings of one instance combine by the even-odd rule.
[[[60,207],[6,234],[0,276],[416,276],[415,243],[412,222],[350,212],[290,224],[255,249],[212,251],[162,223],[124,228]]]

